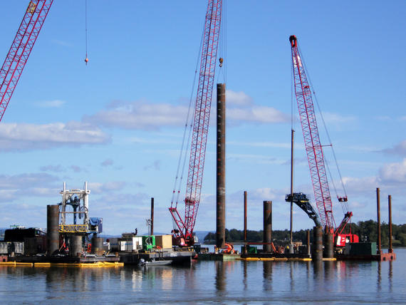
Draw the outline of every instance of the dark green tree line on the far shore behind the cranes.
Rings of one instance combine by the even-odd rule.
[[[357,234],[360,237],[360,242],[376,242],[378,239],[378,222],[370,219],[365,222],[358,222],[357,224],[347,224],[346,232]],[[389,244],[389,225],[385,222],[381,224],[381,243],[382,247]],[[310,232],[311,242],[313,240],[313,229]],[[262,242],[264,232],[247,230],[247,242]],[[290,230],[273,230],[272,239],[274,242],[286,242],[290,239]],[[306,244],[306,230],[293,232],[293,242],[303,242]],[[244,230],[226,229],[227,242],[244,242]],[[216,233],[209,232],[204,237],[204,244],[214,244],[216,242]],[[392,245],[393,247],[406,247],[406,224],[392,224]]]

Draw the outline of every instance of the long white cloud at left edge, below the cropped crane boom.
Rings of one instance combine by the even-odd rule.
[[[0,123],[0,150],[41,150],[59,146],[104,144],[110,136],[93,125]]]

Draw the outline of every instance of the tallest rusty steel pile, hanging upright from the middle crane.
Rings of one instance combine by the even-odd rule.
[[[216,246],[226,242],[226,84],[217,84]]]

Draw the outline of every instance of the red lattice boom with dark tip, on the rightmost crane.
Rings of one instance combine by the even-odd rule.
[[[311,173],[314,197],[321,224],[326,231],[333,232],[335,227],[333,207],[328,187],[326,167],[324,165],[323,148],[318,135],[316,113],[313,106],[311,88],[303,66],[301,53],[298,49],[296,36],[290,36],[292,50],[293,82],[298,103],[298,113],[301,118],[303,138]]]

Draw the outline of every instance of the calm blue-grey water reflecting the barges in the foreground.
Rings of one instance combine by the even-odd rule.
[[[395,262],[196,262],[191,267],[0,267],[0,304],[405,304]]]

